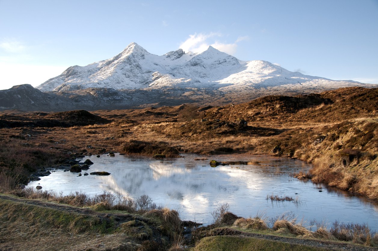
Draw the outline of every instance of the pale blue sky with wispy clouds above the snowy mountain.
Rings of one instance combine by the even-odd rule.
[[[0,89],[37,86],[136,42],[378,83],[378,0],[0,0]]]

